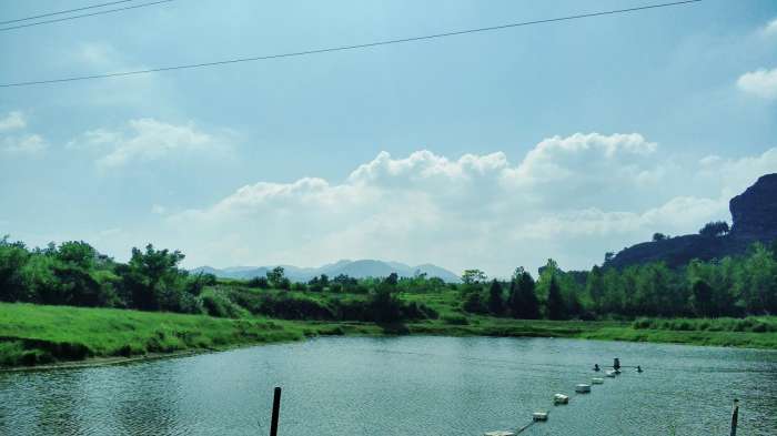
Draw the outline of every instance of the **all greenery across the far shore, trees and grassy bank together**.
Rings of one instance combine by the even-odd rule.
[[[340,334],[558,336],[777,347],[777,255],[672,270],[645,264],[535,280],[467,270],[461,283],[320,275],[281,267],[250,281],[190,274],[183,254],[132,250],[127,263],[84,242],[28,249],[0,240],[0,366],[214,349]],[[9,304],[16,303],[16,304]],[[33,303],[33,304],[24,304]],[[85,306],[85,307],[72,307]],[[210,315],[210,316],[203,316]],[[645,317],[650,316],[650,317]],[[273,320],[269,320],[273,318]]]

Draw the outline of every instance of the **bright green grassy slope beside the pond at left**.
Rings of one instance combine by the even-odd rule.
[[[302,328],[282,321],[0,304],[0,366],[216,349],[302,337]]]

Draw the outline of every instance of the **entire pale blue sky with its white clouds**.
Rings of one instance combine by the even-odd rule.
[[[0,21],[99,3],[3,1]],[[0,83],[365,43],[649,0],[176,0],[0,29]],[[777,172],[777,2],[689,6],[0,88],[0,235],[185,267],[589,268],[730,222]]]

